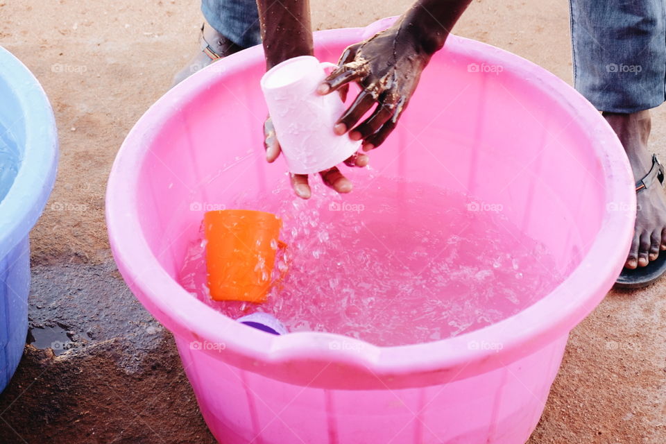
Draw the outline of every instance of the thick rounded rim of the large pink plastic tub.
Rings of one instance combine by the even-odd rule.
[[[344,38],[350,42],[361,40],[391,21],[389,18],[367,28],[347,28]],[[340,33],[341,30],[319,31],[315,42],[339,42]],[[605,173],[606,212],[599,234],[579,266],[554,291],[504,321],[452,339],[395,347],[379,347],[322,332],[273,336],[239,325],[192,298],[164,271],[142,237],[133,190],[146,149],[139,150],[137,146],[148,145],[146,141],[160,131],[162,122],[177,112],[174,104],[189,101],[208,83],[221,80],[232,71],[228,66],[243,69],[263,60],[262,48],[256,46],[216,62],[167,92],[130,131],[110,173],[106,218],[119,271],[144,306],[173,332],[181,348],[187,341],[223,343],[223,349],[205,352],[230,365],[302,386],[427,386],[478,375],[529,355],[567,335],[604,298],[624,263],[635,219],[635,210],[612,211],[608,207],[612,203],[620,208],[635,208],[633,176],[615,133],[572,87],[528,60],[453,35],[445,50],[529,74],[554,102],[575,111],[579,125],[586,126],[590,137],[597,140],[594,149]],[[228,329],[237,328],[244,330],[238,331],[241,334],[227,334]],[[501,350],[484,347],[484,343],[501,344]]]

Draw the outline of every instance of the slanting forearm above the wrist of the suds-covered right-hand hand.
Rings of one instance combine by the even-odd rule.
[[[444,46],[446,38],[472,0],[417,0],[394,26],[416,38],[426,53]]]

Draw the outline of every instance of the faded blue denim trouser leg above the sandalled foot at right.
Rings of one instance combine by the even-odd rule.
[[[665,0],[570,0],[574,85],[600,111],[665,100]]]

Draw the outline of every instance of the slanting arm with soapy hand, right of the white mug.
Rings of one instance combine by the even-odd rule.
[[[349,46],[339,68],[318,90],[329,94],[357,82],[361,92],[340,117],[336,133],[377,148],[393,131],[416,90],[420,74],[439,51],[471,0],[418,0],[390,28]],[[368,119],[359,123],[375,104]]]

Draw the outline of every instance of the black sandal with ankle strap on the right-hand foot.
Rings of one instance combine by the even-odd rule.
[[[644,178],[636,182],[636,192],[640,193],[654,185],[658,180],[661,186],[664,185],[664,167],[659,163],[656,155],[652,155],[652,167]],[[650,261],[647,266],[640,266],[631,270],[623,268],[620,277],[615,281],[615,288],[618,289],[640,289],[647,287],[666,273],[666,252],[662,251],[654,261]]]

